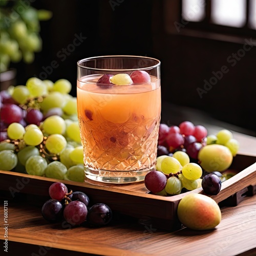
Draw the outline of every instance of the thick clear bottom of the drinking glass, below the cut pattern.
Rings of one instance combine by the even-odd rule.
[[[90,180],[112,183],[112,184],[127,184],[144,181],[145,175],[153,169],[143,169],[134,171],[114,171],[95,170],[86,168],[86,177]]]

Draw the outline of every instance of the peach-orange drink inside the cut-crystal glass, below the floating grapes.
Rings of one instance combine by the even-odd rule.
[[[160,79],[125,86],[98,86],[101,75],[77,81],[77,111],[84,164],[101,174],[127,175],[156,163],[161,113]],[[113,174],[114,173],[114,174]]]

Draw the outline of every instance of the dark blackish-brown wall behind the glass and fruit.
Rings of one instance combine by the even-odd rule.
[[[243,40],[235,43],[168,33],[164,0],[37,0],[32,5],[51,10],[53,17],[41,22],[43,49],[35,61],[14,66],[19,84],[34,75],[52,81],[66,78],[76,95],[79,59],[112,54],[151,56],[161,60],[163,101],[256,131],[256,46],[233,65],[229,56],[243,48]],[[86,39],[73,47],[77,35]],[[52,67],[52,61],[58,67]],[[212,72],[223,66],[228,72],[200,97],[198,88],[204,89],[204,80],[210,81]]]

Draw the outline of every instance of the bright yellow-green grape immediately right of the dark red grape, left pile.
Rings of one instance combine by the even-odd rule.
[[[49,116],[42,123],[42,128],[47,134],[64,134],[66,123],[60,116]]]

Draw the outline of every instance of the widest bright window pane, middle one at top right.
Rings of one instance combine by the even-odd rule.
[[[212,23],[238,28],[245,25],[245,0],[211,0],[211,10]]]

